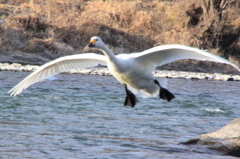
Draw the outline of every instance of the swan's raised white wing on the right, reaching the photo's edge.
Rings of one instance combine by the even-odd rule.
[[[182,59],[194,59],[201,61],[225,63],[233,66],[240,72],[240,69],[237,65],[231,63],[230,61],[222,57],[208,53],[207,51],[200,50],[198,48],[188,47],[184,45],[156,46],[141,53],[136,53],[132,56],[135,57],[135,60],[137,62],[148,68],[149,71],[154,71],[157,66],[171,63],[173,61]]]

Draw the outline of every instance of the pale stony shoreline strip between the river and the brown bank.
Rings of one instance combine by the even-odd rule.
[[[15,71],[15,72],[33,72],[40,66],[25,65],[19,63],[0,63],[0,71]],[[86,74],[86,75],[100,75],[111,76],[111,73],[106,67],[95,67],[87,69],[70,70],[63,73],[69,74]],[[186,72],[174,70],[156,70],[155,77],[162,78],[178,78],[191,80],[213,80],[213,81],[240,81],[240,75],[222,74],[222,73],[202,73],[202,72]]]

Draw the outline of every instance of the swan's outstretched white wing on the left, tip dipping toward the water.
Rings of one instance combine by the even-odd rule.
[[[28,88],[30,85],[60,72],[71,69],[94,67],[98,66],[99,64],[107,64],[107,60],[104,55],[87,53],[60,57],[39,67],[35,72],[31,73],[24,80],[13,87],[8,93],[11,93],[12,96],[16,96],[20,94],[23,89]]]

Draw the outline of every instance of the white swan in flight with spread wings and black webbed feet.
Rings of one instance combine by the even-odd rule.
[[[195,59],[229,64],[240,72],[238,66],[224,58],[183,45],[162,45],[139,53],[115,56],[100,37],[94,36],[91,38],[88,47],[100,49],[105,56],[85,53],[60,57],[39,67],[38,70],[13,87],[9,93],[16,96],[30,85],[57,73],[101,64],[107,65],[111,74],[123,84],[126,91],[124,105],[134,107],[138,102],[135,96],[136,93],[142,96],[158,96],[167,101],[175,98],[170,91],[163,88],[154,78],[153,71],[157,66],[181,59]]]

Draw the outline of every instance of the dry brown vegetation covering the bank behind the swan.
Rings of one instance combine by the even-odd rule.
[[[154,45],[208,49],[240,64],[238,0],[0,0],[0,53],[46,59],[88,51],[91,36],[118,53]],[[120,49],[122,48],[122,49]]]

